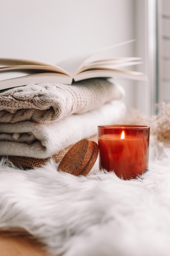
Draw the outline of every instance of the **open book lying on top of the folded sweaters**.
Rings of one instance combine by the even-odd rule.
[[[97,77],[146,81],[146,76],[143,73],[122,69],[123,67],[140,64],[141,58],[103,57],[104,53],[107,52],[108,54],[109,51],[111,56],[112,48],[119,45],[102,49],[100,51],[103,54],[102,58],[98,56],[91,60],[91,56],[99,54],[99,52],[95,52],[79,58],[71,58],[59,65],[23,59],[0,58],[0,90],[31,83],[64,83],[71,85],[73,81]]]

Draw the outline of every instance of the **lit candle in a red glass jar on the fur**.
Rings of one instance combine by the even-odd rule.
[[[124,180],[148,170],[149,126],[98,126],[99,168]]]

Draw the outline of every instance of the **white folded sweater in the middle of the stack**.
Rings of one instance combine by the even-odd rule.
[[[125,113],[125,104],[114,100],[97,110],[73,114],[50,124],[31,121],[0,124],[0,155],[51,157],[77,141],[97,134],[98,125],[121,121]]]

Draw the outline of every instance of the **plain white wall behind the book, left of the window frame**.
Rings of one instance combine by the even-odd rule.
[[[135,0],[0,0],[0,56],[57,63],[134,39],[134,13]],[[134,44],[115,50],[115,56],[134,55]],[[134,107],[134,83],[119,83]]]

